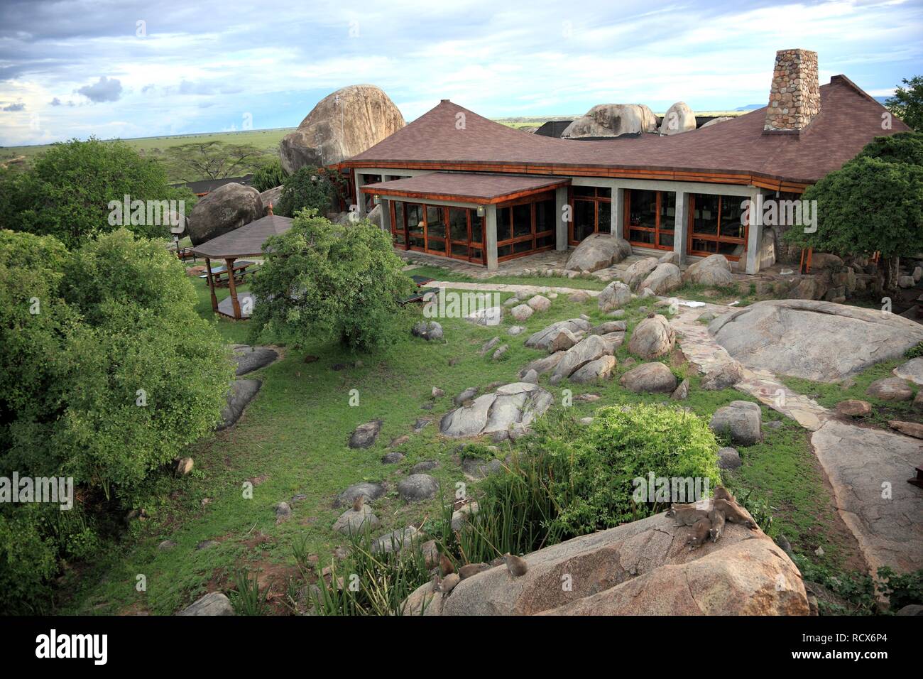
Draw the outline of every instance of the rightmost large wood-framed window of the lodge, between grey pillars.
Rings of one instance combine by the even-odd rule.
[[[721,254],[737,261],[747,250],[747,224],[740,196],[696,193],[689,197],[690,255]]]

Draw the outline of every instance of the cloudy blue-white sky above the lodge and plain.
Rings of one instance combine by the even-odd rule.
[[[294,127],[373,83],[408,120],[764,103],[776,50],[873,95],[923,74],[923,0],[0,0],[0,145]],[[252,121],[252,122],[251,122]]]

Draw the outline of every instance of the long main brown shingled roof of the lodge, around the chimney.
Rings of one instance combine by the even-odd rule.
[[[884,110],[845,76],[834,76],[821,87],[821,113],[798,134],[763,134],[764,107],[672,136],[581,141],[521,132],[443,101],[346,164],[545,174],[580,169],[598,176],[663,171],[727,175],[728,183],[759,177],[810,184],[871,139],[909,129],[895,118],[892,130],[882,130]]]

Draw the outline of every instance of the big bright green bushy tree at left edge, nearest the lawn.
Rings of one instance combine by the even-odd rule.
[[[66,255],[0,241],[0,358],[16,364],[0,378],[0,467],[130,496],[217,423],[233,373],[221,338],[155,241],[122,229]]]

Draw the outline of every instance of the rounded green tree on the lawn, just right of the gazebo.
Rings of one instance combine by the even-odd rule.
[[[367,220],[331,224],[308,210],[267,245],[251,284],[260,300],[251,320],[254,336],[269,328],[295,348],[317,338],[369,348],[398,332],[400,300],[414,283],[378,226]]]

